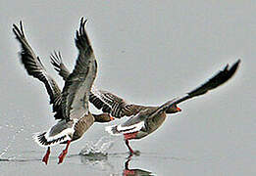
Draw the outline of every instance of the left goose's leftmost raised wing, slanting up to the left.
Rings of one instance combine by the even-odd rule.
[[[46,72],[46,69],[42,65],[39,57],[35,56],[32,48],[26,41],[23,23],[20,22],[20,28],[16,24],[13,24],[13,32],[16,35],[16,39],[22,46],[22,51],[20,52],[21,61],[25,66],[28,75],[31,75],[44,83],[50,97],[50,104],[53,105],[53,111],[59,111],[61,103],[61,91],[54,79]],[[61,113],[59,114],[60,116],[56,116],[56,118],[62,118]]]

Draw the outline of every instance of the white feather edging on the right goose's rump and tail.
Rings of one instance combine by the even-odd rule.
[[[120,125],[112,125],[112,126],[107,126],[105,127],[105,131],[110,133],[111,135],[121,135],[121,134],[128,134],[128,133],[133,133],[139,131],[143,126],[144,126],[144,121],[141,121],[139,123],[130,125],[130,126],[122,126]],[[118,133],[113,133],[113,128],[117,126]],[[125,130],[125,131],[124,131]]]

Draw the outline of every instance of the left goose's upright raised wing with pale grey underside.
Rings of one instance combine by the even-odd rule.
[[[97,63],[85,31],[85,23],[81,18],[76,37],[77,63],[62,92],[62,110],[66,119],[80,118],[88,114],[89,92],[97,72]]]

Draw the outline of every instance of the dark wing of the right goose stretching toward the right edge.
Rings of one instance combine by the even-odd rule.
[[[232,75],[235,73],[236,69],[238,68],[239,64],[240,64],[240,60],[235,62],[232,66],[229,66],[229,65],[225,66],[223,70],[219,71],[215,76],[210,78],[207,82],[205,82],[201,86],[190,91],[185,96],[177,99],[176,101],[172,101],[170,106],[178,105],[179,103],[184,102],[188,99],[192,99],[193,97],[204,95],[208,91],[213,90],[218,86],[224,84],[232,77]]]

